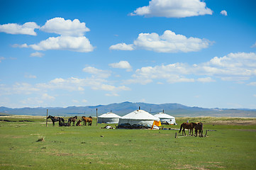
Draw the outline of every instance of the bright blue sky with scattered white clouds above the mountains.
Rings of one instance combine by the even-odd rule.
[[[256,108],[255,1],[0,4],[0,106]]]

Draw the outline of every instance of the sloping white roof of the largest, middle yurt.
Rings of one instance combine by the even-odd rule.
[[[154,115],[151,115],[150,113],[143,110],[137,110],[137,111],[128,113],[127,115],[124,115],[123,117],[121,117],[121,119],[157,120],[157,121],[160,120],[159,118],[156,118]]]

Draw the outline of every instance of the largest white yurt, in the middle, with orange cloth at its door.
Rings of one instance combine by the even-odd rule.
[[[154,120],[160,121],[160,118],[156,118],[154,115],[143,111],[137,110],[132,113],[128,113],[119,119],[118,125],[129,123],[130,125],[148,125],[152,126]]]

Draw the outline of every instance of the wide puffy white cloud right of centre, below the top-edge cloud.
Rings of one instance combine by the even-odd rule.
[[[133,42],[133,47],[155,52],[196,52],[211,44],[209,40],[200,38],[187,38],[165,30],[163,35],[157,33],[140,33]],[[121,49],[118,49],[121,50]]]

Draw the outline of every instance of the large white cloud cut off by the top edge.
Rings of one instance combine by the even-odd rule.
[[[152,0],[148,6],[137,8],[131,16],[184,18],[212,14],[206,3],[200,0]]]

